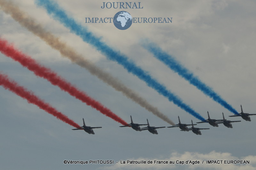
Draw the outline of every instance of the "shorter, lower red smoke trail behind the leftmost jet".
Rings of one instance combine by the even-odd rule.
[[[63,122],[74,126],[80,127],[76,124],[73,120],[69,119],[66,115],[63,115],[61,112],[57,111],[53,108],[50,104],[45,103],[42,99],[34,95],[32,91],[28,91],[22,86],[19,86],[17,82],[10,80],[7,75],[0,73],[0,85],[4,87],[4,89],[8,89],[15,93],[16,95],[27,99],[28,103],[35,104],[40,109],[50,113],[52,116],[57,117],[58,119],[62,120]]]

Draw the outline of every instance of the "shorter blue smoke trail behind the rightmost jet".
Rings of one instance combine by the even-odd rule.
[[[201,90],[205,95],[211,97],[217,103],[220,103],[221,106],[225,107],[234,114],[238,112],[228,104],[224,99],[220,97],[212,88],[200,81],[192,72],[187,68],[183,67],[179,61],[175,60],[174,57],[165,53],[160,47],[155,43],[149,42],[148,40],[142,41],[142,46],[147,49],[149,52],[153,53],[154,56],[171,68],[174,72],[178,73],[181,77],[189,81],[190,84],[196,86],[197,89]]]

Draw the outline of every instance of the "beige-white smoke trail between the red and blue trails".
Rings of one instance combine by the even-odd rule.
[[[95,66],[93,63],[84,59],[81,55],[77,54],[73,48],[67,46],[64,42],[61,42],[60,39],[55,37],[52,33],[47,32],[43,26],[36,23],[34,18],[29,17],[25,12],[21,11],[18,6],[12,4],[11,2],[6,2],[5,0],[0,0],[0,6],[4,12],[10,14],[14,20],[20,23],[20,25],[24,26],[30,32],[43,39],[52,48],[58,50],[62,56],[67,57],[72,62],[83,68],[86,68],[92,75],[97,76],[100,80],[107,83],[117,91],[122,92],[124,96],[130,98],[132,101],[139,104],[146,110],[152,112],[154,115],[161,118],[165,122],[174,125],[171,119],[160,112],[156,107],[148,103],[146,99],[139,96],[132,89],[129,89],[112,75],[106,73],[99,67]]]

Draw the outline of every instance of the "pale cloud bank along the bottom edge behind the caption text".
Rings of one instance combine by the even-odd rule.
[[[129,161],[138,161],[138,164],[130,164],[127,163]],[[236,157],[233,156],[231,153],[228,152],[216,152],[212,151],[209,153],[198,153],[198,152],[184,152],[178,153],[173,152],[171,153],[169,158],[163,159],[162,157],[158,158],[131,158],[127,160],[122,160],[126,162],[126,164],[121,164],[120,161],[113,166],[105,166],[101,169],[180,169],[181,167],[184,169],[191,169],[191,170],[199,170],[199,169],[212,169],[212,170],[256,170],[256,156],[250,155],[246,157]],[[146,161],[146,164],[141,164],[141,160]],[[153,164],[149,164],[148,161],[153,161]],[[157,161],[167,161],[168,164],[154,164],[154,160]],[[206,164],[206,160],[216,160],[219,164]],[[218,161],[219,160],[219,161]],[[222,160],[222,163],[221,163]],[[250,164],[225,164],[224,161],[227,160],[249,160]],[[179,164],[178,164],[178,162]],[[184,164],[181,165],[184,161]],[[186,161],[187,164],[186,164]],[[194,161],[194,162],[193,162]],[[198,162],[199,161],[199,164]],[[203,163],[204,161],[204,163]],[[174,164],[170,164],[170,162],[174,162]],[[196,163],[197,162],[197,163]],[[194,164],[194,165],[193,165]]]

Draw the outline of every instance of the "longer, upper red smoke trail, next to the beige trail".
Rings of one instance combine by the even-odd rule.
[[[77,89],[71,83],[67,82],[64,78],[57,75],[50,68],[44,67],[36,62],[36,60],[32,59],[30,56],[20,52],[15,49],[12,45],[8,44],[8,42],[4,39],[0,38],[0,51],[6,56],[12,58],[15,61],[18,61],[22,66],[27,67],[30,71],[33,71],[37,76],[40,76],[48,81],[50,81],[53,85],[60,87],[60,89],[68,92],[71,96],[76,97],[87,105],[99,110],[102,114],[114,119],[115,121],[125,125],[127,124],[123,119],[118,117],[111,110],[103,106],[98,101],[92,99],[90,96],[85,94],[83,91]],[[78,126],[79,127],[79,126]]]

